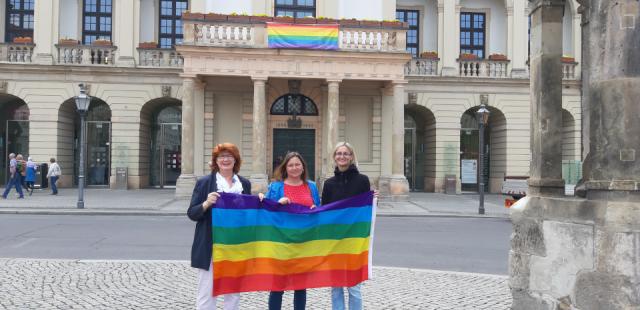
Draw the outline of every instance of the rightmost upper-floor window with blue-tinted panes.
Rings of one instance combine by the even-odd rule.
[[[485,57],[485,14],[460,13],[460,53]]]

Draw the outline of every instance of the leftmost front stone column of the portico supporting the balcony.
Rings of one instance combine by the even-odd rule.
[[[193,173],[194,144],[194,96],[196,80],[194,77],[185,77],[182,81],[182,152],[180,177],[176,182],[176,197],[189,197],[196,184]]]

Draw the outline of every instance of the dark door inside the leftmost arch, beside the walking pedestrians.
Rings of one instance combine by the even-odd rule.
[[[9,154],[22,154],[29,155],[29,121],[14,121],[8,120],[5,127],[4,137],[0,137],[0,148],[2,152],[3,169],[0,169],[2,176],[0,180],[7,184],[9,181]]]

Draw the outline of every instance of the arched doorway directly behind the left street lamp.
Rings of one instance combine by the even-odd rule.
[[[73,166],[73,184],[80,169],[80,115],[74,99],[65,101],[58,112],[60,166]],[[111,177],[111,109],[99,98],[91,97],[85,116],[85,182],[87,186],[109,186]],[[73,145],[70,149],[69,145]]]

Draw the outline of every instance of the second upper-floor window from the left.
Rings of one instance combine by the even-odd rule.
[[[82,43],[95,40],[111,41],[111,0],[84,0]]]

